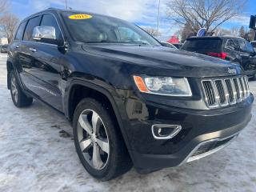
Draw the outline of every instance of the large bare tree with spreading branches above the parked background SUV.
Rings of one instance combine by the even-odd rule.
[[[171,0],[167,2],[167,15],[174,22],[191,26],[194,33],[200,28],[213,32],[222,23],[238,16],[247,0]]]

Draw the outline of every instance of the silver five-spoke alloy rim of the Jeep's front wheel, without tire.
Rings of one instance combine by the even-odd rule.
[[[86,162],[102,170],[109,158],[110,144],[106,127],[94,110],[83,110],[78,118],[78,142]]]

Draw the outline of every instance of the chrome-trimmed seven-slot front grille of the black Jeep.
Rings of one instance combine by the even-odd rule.
[[[248,78],[222,78],[202,80],[206,104],[210,108],[233,105],[250,95]]]

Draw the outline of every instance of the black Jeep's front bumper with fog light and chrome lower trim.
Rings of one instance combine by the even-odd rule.
[[[180,166],[221,150],[251,119],[254,97],[214,110],[186,110],[126,100],[124,128],[137,170]],[[145,172],[146,173],[146,172]]]

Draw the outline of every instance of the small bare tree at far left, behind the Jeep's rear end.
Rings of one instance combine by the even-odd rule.
[[[8,42],[13,38],[14,30],[18,26],[18,22],[19,19],[15,14],[7,13],[0,18],[0,26],[2,26],[3,32],[6,33]]]

